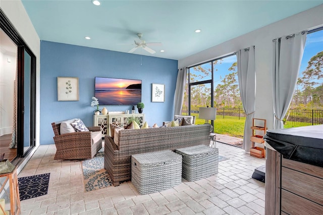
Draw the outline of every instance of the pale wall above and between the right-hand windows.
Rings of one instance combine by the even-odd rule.
[[[267,25],[245,35],[213,46],[178,61],[178,68],[216,59],[236,50],[255,45],[256,112],[255,117],[266,119],[273,129],[274,111],[272,95],[272,43],[273,39],[323,25],[323,4],[310,10]],[[224,32],[225,33],[225,32]]]

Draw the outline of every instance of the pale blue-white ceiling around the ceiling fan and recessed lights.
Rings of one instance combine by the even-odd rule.
[[[8,1],[8,0],[2,0]],[[138,32],[156,53],[180,60],[323,1],[50,1],[22,0],[41,40],[128,52]],[[201,29],[200,33],[194,30]],[[84,37],[91,37],[86,40]],[[163,49],[165,52],[160,52]]]

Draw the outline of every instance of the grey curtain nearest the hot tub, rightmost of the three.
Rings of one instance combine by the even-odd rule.
[[[305,41],[304,32],[273,41],[274,129],[284,128],[283,119],[293,98]]]

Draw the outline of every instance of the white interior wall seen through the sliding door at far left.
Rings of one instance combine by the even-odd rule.
[[[16,58],[16,53],[0,50],[0,136],[12,133]]]

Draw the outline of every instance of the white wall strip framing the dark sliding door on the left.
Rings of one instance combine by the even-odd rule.
[[[19,32],[20,36],[36,56],[36,147],[33,149],[34,152],[39,146],[40,39],[21,1],[1,0],[0,8],[4,11],[8,19]],[[23,164],[18,168],[18,173],[28,162],[33,152],[24,159]]]

